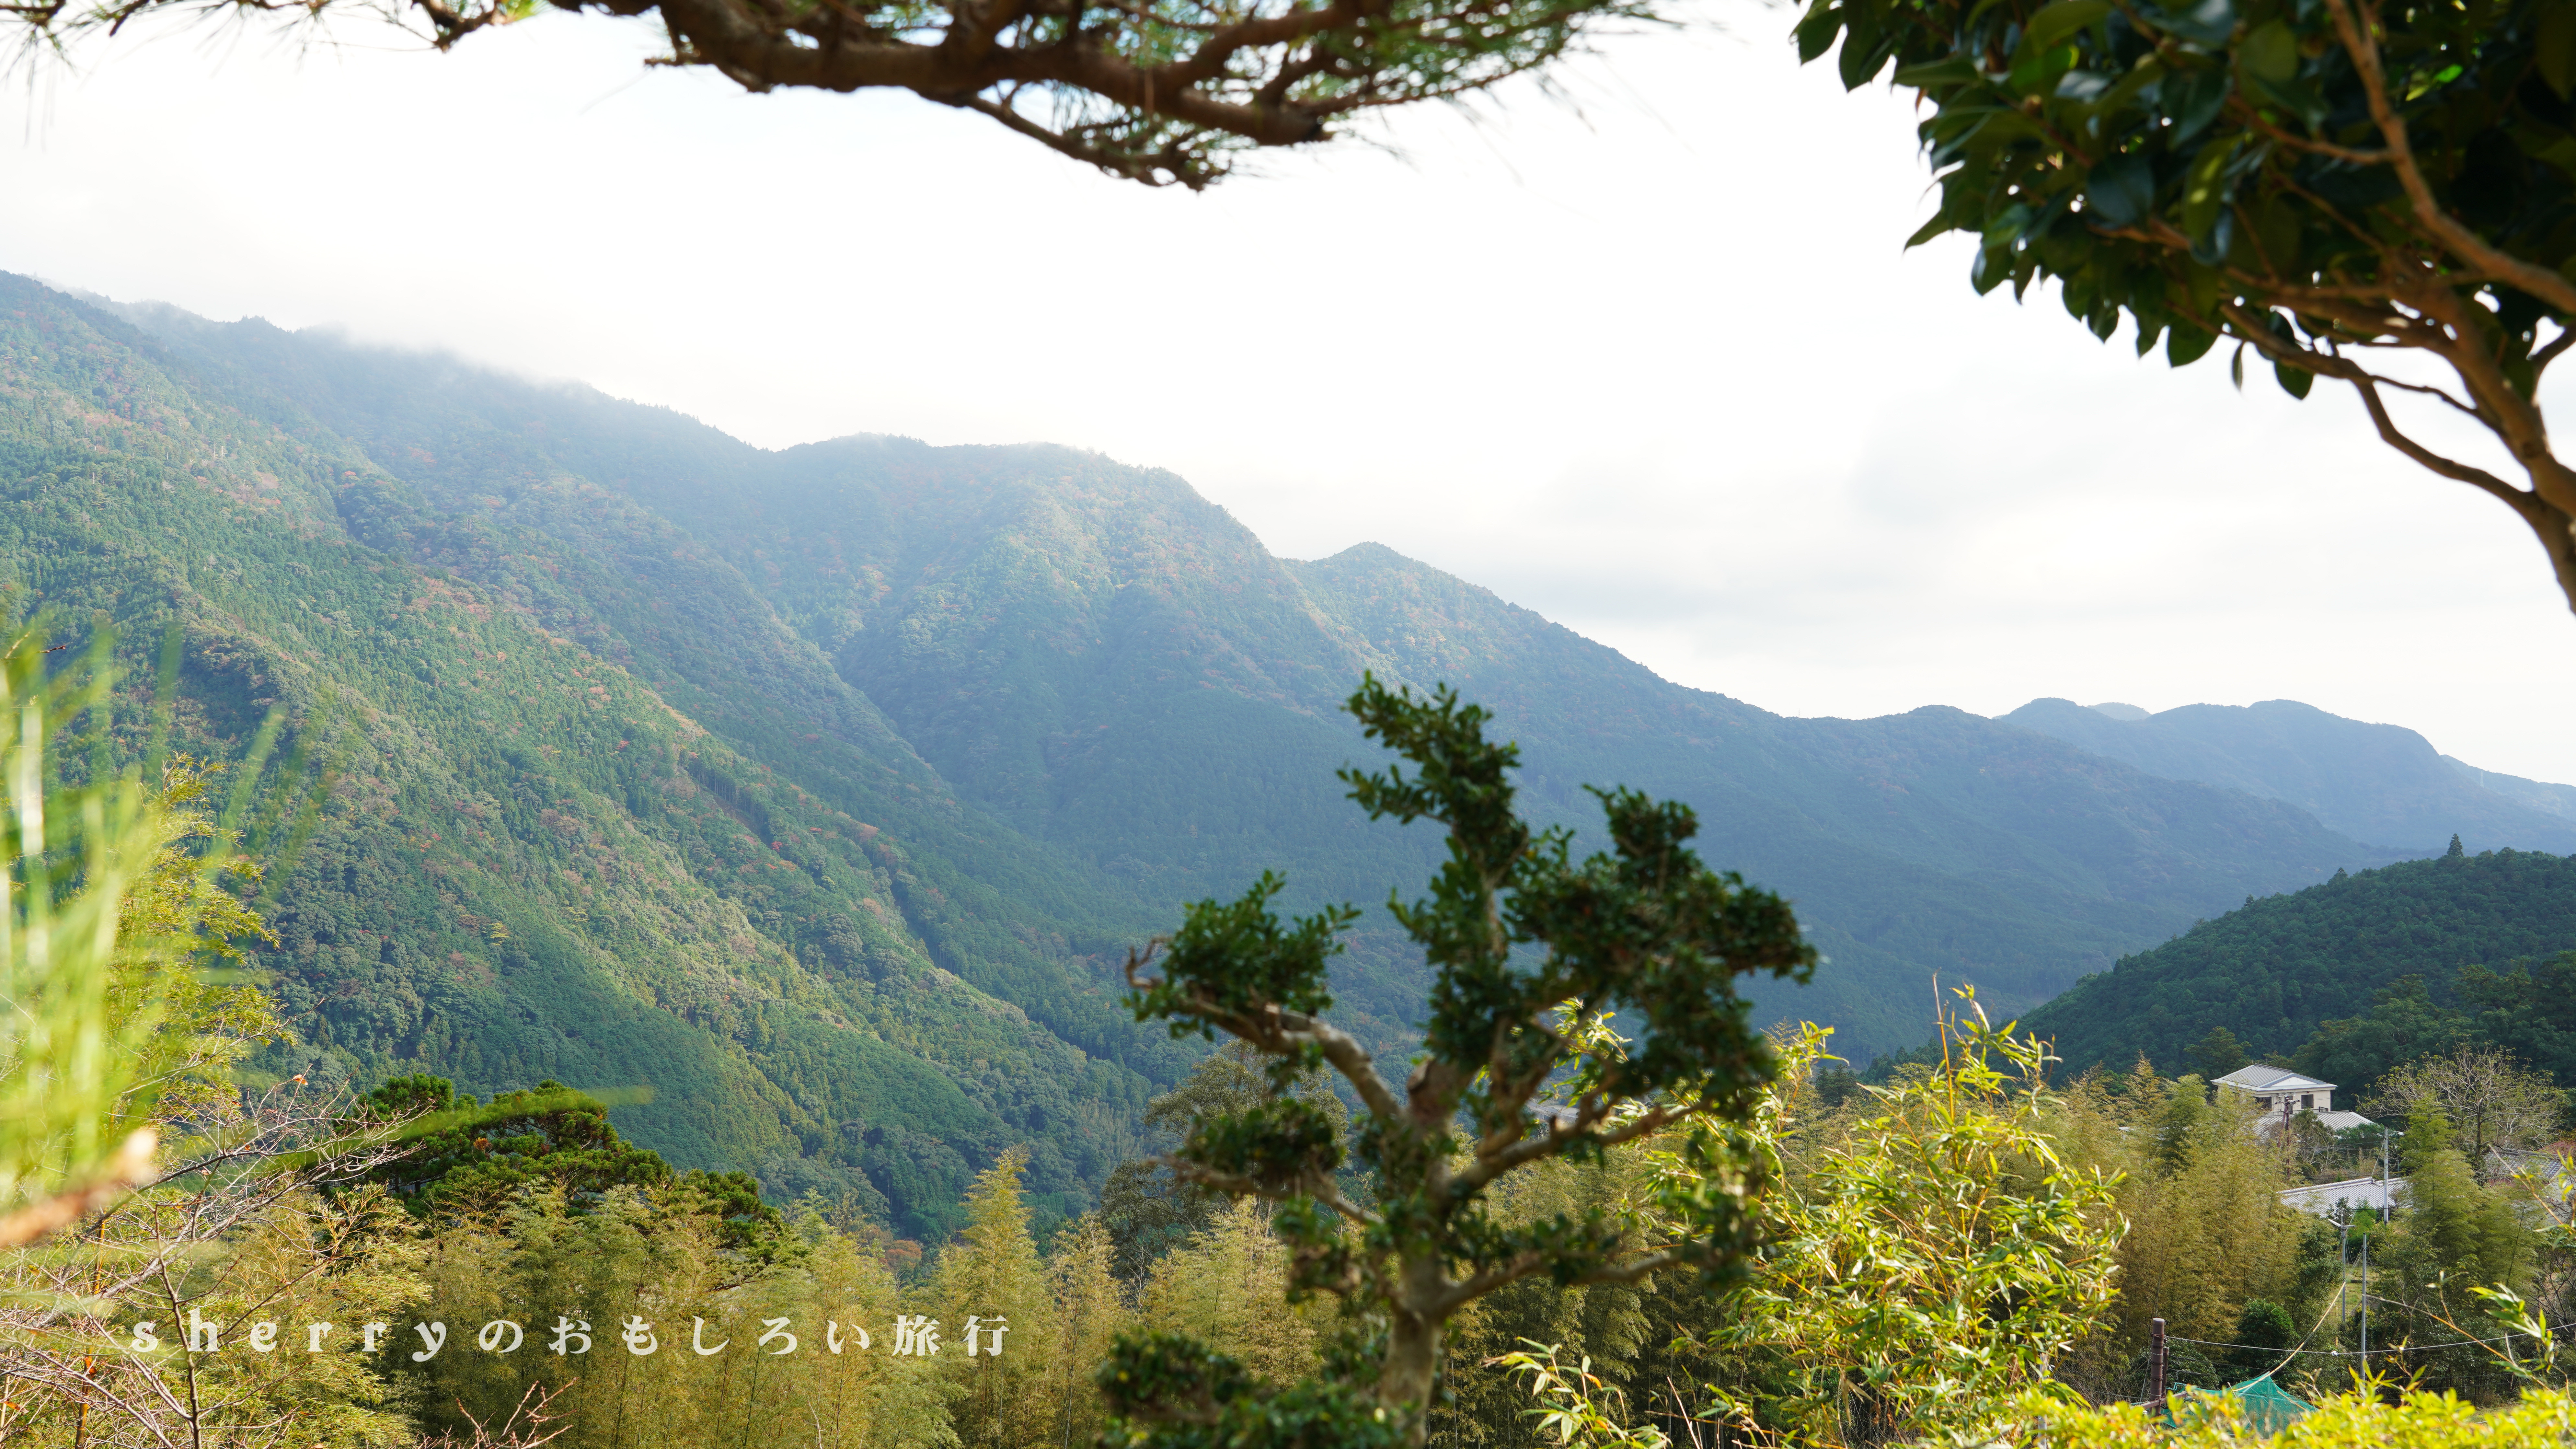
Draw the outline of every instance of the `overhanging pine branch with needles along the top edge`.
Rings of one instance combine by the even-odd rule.
[[[155,10],[319,15],[332,0],[5,0],[36,44]],[[541,0],[381,5],[438,49]],[[1257,147],[1324,142],[1355,119],[1458,101],[1543,72],[1651,0],[562,0],[654,15],[657,64],[744,90],[912,90],[989,116],[1110,175],[1203,188]]]

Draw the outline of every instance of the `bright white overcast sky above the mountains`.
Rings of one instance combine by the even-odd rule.
[[[1275,552],[1363,539],[1785,714],[2303,699],[2576,781],[2576,619],[2496,503],[2321,384],[2099,345],[1901,253],[1911,103],[1716,0],[1571,103],[1100,178],[904,95],[647,72],[544,15],[438,57],[183,31],[8,90],[0,268],[340,325],[762,446],[1059,441]],[[211,39],[209,39],[211,36]]]

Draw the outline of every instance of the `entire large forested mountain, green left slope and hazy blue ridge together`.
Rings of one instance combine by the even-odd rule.
[[[335,771],[263,957],[270,1070],[492,1093],[652,1085],[680,1165],[938,1232],[1036,1150],[1090,1199],[1193,1049],[1115,962],[1262,866],[1298,902],[1417,890],[1437,841],[1332,768],[1360,670],[1448,681],[1584,784],[1682,797],[1705,856],[1832,957],[1772,1011],[1868,1057],[1929,977],[2004,1011],[2233,900],[2396,851],[1958,709],[1785,719],[1672,686],[1360,544],[1270,557],[1182,480],[1048,446],[762,451],[657,407],[263,322],[0,278],[0,583],[137,665],[183,632],[185,740],[270,706]],[[1383,913],[1345,1016],[1401,1047]]]

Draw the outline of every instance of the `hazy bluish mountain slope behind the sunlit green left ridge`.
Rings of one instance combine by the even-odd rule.
[[[1370,758],[1337,709],[1365,668],[1494,706],[1543,817],[1589,822],[1584,784],[1692,802],[1708,859],[1788,890],[1834,957],[1816,987],[1770,1006],[1837,1021],[1860,1055],[1919,1036],[1932,975],[2032,1006],[2246,892],[2388,859],[2298,810],[1950,709],[1783,719],[1680,688],[1388,549],[1273,559],[1177,477],[1066,449],[842,438],[765,454],[580,387],[137,315],[245,392],[309,410],[446,516],[585,554],[600,575],[585,601],[688,559],[696,572],[667,588],[711,616],[701,634],[747,616],[793,632],[809,650],[793,678],[827,660],[963,807],[1061,851],[1149,920],[1262,866],[1283,866],[1298,902],[1373,902],[1422,879],[1437,841],[1368,825],[1332,779]],[[415,557],[495,580],[510,567],[471,549]],[[546,606],[536,583],[531,606]],[[590,627],[577,637],[605,657],[636,650],[634,668],[739,748],[793,745],[721,724],[783,688],[786,665],[690,673],[649,621],[590,608],[600,627],[549,619]],[[1020,1000],[989,967],[961,975]],[[1355,1026],[1401,1047],[1419,982],[1383,918],[1340,980]],[[1090,1047],[1087,1026],[1041,1021]]]

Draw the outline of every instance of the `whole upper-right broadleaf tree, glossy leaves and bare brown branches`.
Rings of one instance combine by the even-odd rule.
[[[2174,366],[2236,343],[2293,397],[2352,384],[2383,441],[2486,490],[2576,606],[2576,472],[2540,376],[2576,343],[2576,10],[2561,0],[1811,0],[1803,59],[1857,88],[1896,62],[1971,284],[2056,278]],[[2421,382],[2406,356],[2450,374]],[[2401,428],[2473,418],[2499,477]]]

